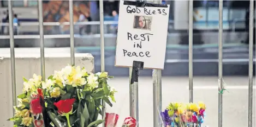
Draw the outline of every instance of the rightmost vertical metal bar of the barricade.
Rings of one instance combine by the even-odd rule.
[[[249,12],[249,96],[248,96],[248,127],[252,127],[252,111],[253,111],[253,13],[254,1],[250,1]]]

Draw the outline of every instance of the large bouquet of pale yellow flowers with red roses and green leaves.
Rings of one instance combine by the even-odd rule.
[[[55,71],[45,81],[40,75],[23,78],[23,93],[17,96],[14,126],[90,127],[103,123],[102,100],[112,106],[115,93],[107,80],[108,72],[88,73],[79,66]]]

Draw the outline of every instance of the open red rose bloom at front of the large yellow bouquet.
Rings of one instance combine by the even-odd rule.
[[[66,99],[66,100],[59,100],[57,103],[54,103],[54,105],[58,108],[58,113],[68,113],[73,108],[73,103],[75,102],[75,98],[72,99]]]

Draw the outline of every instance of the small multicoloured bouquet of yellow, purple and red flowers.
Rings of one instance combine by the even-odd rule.
[[[205,117],[205,104],[171,103],[160,112],[164,127],[201,127]]]

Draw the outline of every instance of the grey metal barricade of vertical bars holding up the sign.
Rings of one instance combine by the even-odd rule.
[[[41,75],[45,80],[45,58],[44,58],[44,33],[43,33],[43,3],[38,1],[39,8],[39,31],[40,31],[40,60],[41,60]],[[154,1],[159,3],[160,1]],[[250,0],[250,13],[249,13],[249,96],[248,96],[248,127],[252,127],[252,103],[253,103],[253,5],[254,1]],[[12,1],[8,1],[8,9],[12,9]],[[73,1],[69,0],[69,14],[70,14],[70,59],[71,64],[75,64],[74,55],[74,23],[73,23]],[[101,71],[105,69],[104,65],[104,22],[103,22],[103,1],[100,1],[100,53],[101,53]],[[218,78],[221,80],[219,85],[219,91],[222,89],[222,45],[223,45],[223,1],[219,1],[219,38],[218,38]],[[15,78],[15,55],[14,55],[14,31],[13,31],[13,12],[9,11],[9,39],[10,39],[10,54],[11,54],[11,84],[12,84],[12,96],[13,105],[16,105],[16,78]],[[193,102],[193,0],[189,0],[189,102]],[[131,68],[130,68],[131,72]],[[154,113],[154,127],[157,127],[159,123],[158,109],[162,110],[162,93],[161,93],[161,70],[153,70],[153,113]],[[138,89],[137,89],[138,90]],[[103,102],[104,104],[104,102]],[[218,97],[218,126],[222,127],[222,94],[219,93]],[[105,106],[103,106],[105,107]],[[103,114],[105,109],[103,108]],[[14,112],[13,112],[14,113]],[[103,116],[104,118],[104,116]],[[103,125],[104,126],[104,125]]]

